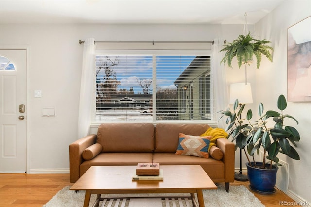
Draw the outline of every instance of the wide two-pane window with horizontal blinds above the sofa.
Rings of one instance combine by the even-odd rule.
[[[211,120],[210,56],[96,55],[96,121]]]

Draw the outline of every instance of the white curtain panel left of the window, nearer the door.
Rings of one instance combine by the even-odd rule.
[[[95,80],[95,45],[94,39],[88,38],[83,43],[82,73],[80,87],[79,117],[78,117],[78,138],[89,134],[91,122],[93,87]]]

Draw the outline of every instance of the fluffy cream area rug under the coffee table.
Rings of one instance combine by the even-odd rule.
[[[75,192],[69,190],[71,186],[66,186],[60,190],[47,204],[43,207],[82,207],[85,191]],[[258,198],[254,196],[245,186],[230,186],[229,193],[225,191],[225,186],[220,184],[217,185],[218,189],[203,190],[203,197],[205,206],[210,207],[264,207]],[[138,194],[127,194],[135,196]],[[139,194],[141,196],[148,195],[159,195],[159,194]],[[161,195],[175,195],[175,194],[161,194]],[[178,194],[188,195],[188,194]],[[190,195],[190,194],[189,194]],[[121,196],[120,194],[104,195],[102,197],[114,197]],[[126,197],[126,195],[124,195]],[[96,195],[91,195],[90,207],[96,200]],[[175,202],[175,201],[173,201]],[[176,200],[178,207],[178,201]],[[192,207],[192,203],[190,207]],[[100,203],[101,205],[101,203]],[[115,204],[106,204],[104,206],[114,206]],[[120,205],[121,206],[121,205]],[[125,207],[165,207],[165,201],[161,199],[150,198],[150,199],[133,199],[131,198],[126,202]],[[175,205],[174,205],[175,206]],[[118,205],[116,205],[118,207]],[[170,201],[170,207],[173,207],[172,201]]]

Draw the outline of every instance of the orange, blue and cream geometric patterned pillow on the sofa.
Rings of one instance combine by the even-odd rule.
[[[211,136],[192,136],[179,133],[176,155],[191,155],[208,158],[208,147]]]

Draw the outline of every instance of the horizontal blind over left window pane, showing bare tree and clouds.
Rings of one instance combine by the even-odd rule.
[[[152,56],[97,55],[95,65],[96,121],[152,120]]]

